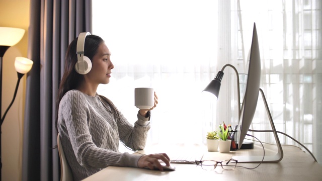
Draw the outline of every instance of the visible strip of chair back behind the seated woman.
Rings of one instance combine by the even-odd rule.
[[[64,154],[64,150],[63,150],[61,142],[60,142],[60,134],[59,133],[57,135],[57,145],[58,145],[58,153],[59,153],[59,158],[60,158],[60,181],[73,180],[70,166],[67,162],[67,159]]]

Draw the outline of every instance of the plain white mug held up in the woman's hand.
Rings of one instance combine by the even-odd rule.
[[[138,87],[134,89],[134,105],[138,109],[150,109],[154,106],[153,88]]]

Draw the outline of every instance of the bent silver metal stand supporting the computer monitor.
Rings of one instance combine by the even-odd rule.
[[[279,140],[279,138],[277,136],[275,125],[274,125],[274,122],[273,122],[273,119],[272,119],[271,112],[270,112],[270,110],[268,108],[268,104],[267,104],[264,92],[263,92],[263,90],[261,88],[260,88],[260,92],[262,94],[264,105],[265,105],[265,108],[266,108],[266,112],[267,112],[267,115],[269,117],[272,129],[273,129],[273,133],[274,133],[274,137],[275,137],[275,141],[276,141],[276,144],[277,144],[278,151],[277,151],[276,155],[269,155],[269,156],[265,155],[264,160],[263,160],[263,156],[249,155],[249,156],[233,156],[232,157],[233,159],[238,160],[238,162],[240,162],[240,163],[258,163],[258,162],[262,162],[262,160],[263,160],[263,162],[267,162],[267,163],[277,163],[277,162],[279,162],[279,161],[281,161],[283,159],[283,149],[282,149],[280,140]],[[267,131],[255,131],[255,130],[249,130],[249,131],[267,132]]]

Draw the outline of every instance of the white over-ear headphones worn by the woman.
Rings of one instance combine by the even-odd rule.
[[[84,32],[79,34],[77,39],[77,62],[75,64],[75,70],[79,74],[87,74],[92,69],[92,61],[89,57],[84,56],[85,38],[87,35],[91,35],[90,32]]]

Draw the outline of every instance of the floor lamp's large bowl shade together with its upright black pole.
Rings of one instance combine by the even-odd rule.
[[[25,30],[20,28],[0,27],[0,117],[2,117],[2,60],[8,48],[16,45],[24,36]],[[3,120],[1,119],[1,124]],[[1,125],[0,125],[0,169],[2,169],[1,161]],[[2,178],[0,170],[0,180]]]

